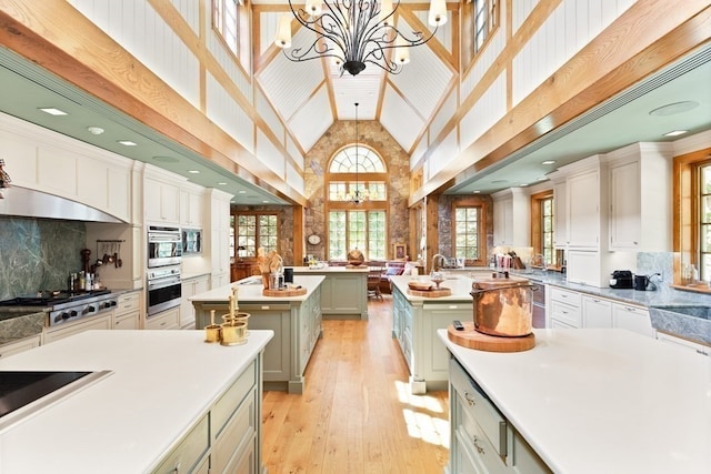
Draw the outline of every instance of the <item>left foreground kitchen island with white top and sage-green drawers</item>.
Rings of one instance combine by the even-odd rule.
[[[271,337],[222,346],[202,331],[88,331],[0,361],[0,371],[110,371],[2,428],[0,472],[262,472]]]

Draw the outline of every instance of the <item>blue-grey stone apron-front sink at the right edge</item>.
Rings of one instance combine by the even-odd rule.
[[[669,334],[711,345],[711,307],[693,304],[650,306],[652,326]]]

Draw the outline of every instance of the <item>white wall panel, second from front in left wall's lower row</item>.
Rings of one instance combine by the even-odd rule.
[[[206,75],[206,115],[237,140],[244,149],[254,150],[252,119],[211,75]]]

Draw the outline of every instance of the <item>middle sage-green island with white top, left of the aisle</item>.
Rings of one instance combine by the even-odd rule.
[[[189,300],[196,309],[196,327],[210,324],[210,312],[216,311],[216,323],[229,312],[228,297],[238,290],[239,312],[249,313],[249,330],[270,330],[274,337],[264,350],[264,389],[302,393],[303,373],[316,347],[321,330],[321,284],[319,275],[294,275],[294,284],[304,294],[264,296],[262,278],[251,276],[229,285],[196,294]]]

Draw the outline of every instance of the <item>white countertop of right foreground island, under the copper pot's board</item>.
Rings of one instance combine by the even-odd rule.
[[[449,351],[558,474],[711,473],[711,357],[625,330]]]

